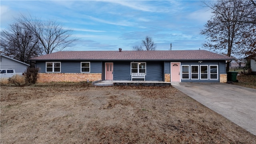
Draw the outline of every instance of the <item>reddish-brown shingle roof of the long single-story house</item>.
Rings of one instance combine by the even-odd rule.
[[[206,50],[189,51],[59,51],[29,60],[232,60]]]

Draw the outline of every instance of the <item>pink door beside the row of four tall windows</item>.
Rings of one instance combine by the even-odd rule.
[[[171,62],[171,82],[180,82],[180,62]]]

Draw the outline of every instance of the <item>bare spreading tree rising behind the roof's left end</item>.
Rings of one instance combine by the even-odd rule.
[[[62,51],[66,47],[72,47],[74,41],[72,39],[72,30],[64,29],[60,23],[54,20],[46,22],[21,15],[15,18],[15,21],[21,23],[24,27],[33,31],[39,40],[40,54],[49,54],[54,51]]]

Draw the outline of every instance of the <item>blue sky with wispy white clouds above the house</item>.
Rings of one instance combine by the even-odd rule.
[[[1,25],[5,29],[20,14],[53,19],[72,29],[79,40],[67,51],[130,51],[150,36],[157,50],[202,49],[200,35],[211,11],[199,0],[161,1],[12,1],[1,0]]]

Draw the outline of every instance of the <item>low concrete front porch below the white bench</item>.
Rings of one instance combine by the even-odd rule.
[[[171,86],[170,82],[163,81],[128,81],[128,80],[104,80],[94,83],[95,86]]]

